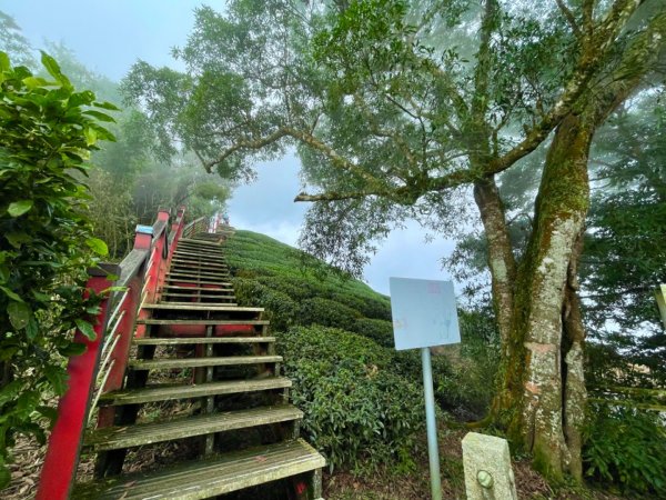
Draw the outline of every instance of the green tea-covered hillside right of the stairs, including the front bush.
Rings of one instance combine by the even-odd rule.
[[[330,466],[410,469],[423,446],[421,361],[393,349],[389,298],[263,234],[236,231],[226,256],[239,304],[266,309],[303,431]],[[435,391],[442,409],[475,418],[491,397],[494,332],[478,314],[461,311],[461,324],[463,347],[434,358]]]

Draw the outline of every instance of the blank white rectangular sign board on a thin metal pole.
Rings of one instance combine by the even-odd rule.
[[[452,281],[391,278],[390,289],[395,349],[461,341]]]

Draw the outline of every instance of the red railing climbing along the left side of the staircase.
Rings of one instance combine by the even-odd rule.
[[[37,500],[65,500],[71,491],[79,464],[85,427],[100,394],[123,386],[130,346],[133,337],[145,329],[137,319],[147,316],[142,304],[152,303],[164,282],[171,257],[181,237],[205,231],[206,220],[198,219],[184,226],[184,209],[179,209],[169,226],[169,212],[160,210],[153,226],[138,226],[133,250],[119,266],[102,264],[91,272],[87,288],[103,293],[120,288],[101,302],[95,322],[95,340],[77,332],[74,341],[85,344],[80,356],[70,358],[68,390],[58,406],[58,420],[49,438]],[[117,274],[111,281],[109,277]],[[98,413],[98,427],[113,423],[114,409]]]

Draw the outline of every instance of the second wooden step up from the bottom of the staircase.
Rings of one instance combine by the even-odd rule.
[[[172,439],[192,438],[254,426],[301,420],[303,412],[291,404],[260,407],[181,418],[168,422],[151,422],[129,427],[95,429],[85,436],[83,446],[93,451],[140,447]]]

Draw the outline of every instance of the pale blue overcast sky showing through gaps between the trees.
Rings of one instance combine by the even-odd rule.
[[[43,40],[62,41],[90,69],[120,80],[137,59],[153,66],[178,68],[173,47],[184,44],[193,22],[195,0],[0,0],[24,36],[40,48]],[[222,1],[205,2],[221,9]],[[241,229],[269,234],[294,244],[306,204],[294,203],[300,192],[300,163],[294,157],[258,166],[259,179],[239,188],[230,202],[230,217]],[[375,290],[389,293],[389,277],[450,279],[440,259],[453,243],[425,243],[416,226],[394,231],[365,270]],[[456,291],[461,291],[456,286]]]

